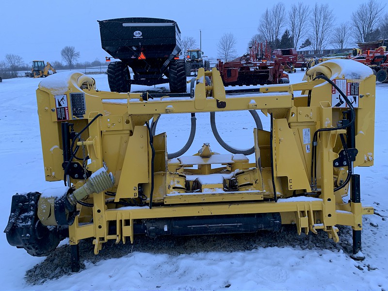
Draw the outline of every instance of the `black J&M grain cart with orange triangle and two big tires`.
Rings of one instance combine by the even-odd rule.
[[[102,49],[121,60],[108,65],[108,82],[112,92],[129,92],[130,84],[167,82],[172,93],[186,92],[185,61],[177,57],[181,50],[177,22],[129,17],[98,23]],[[133,71],[133,80],[130,80],[128,67]]]

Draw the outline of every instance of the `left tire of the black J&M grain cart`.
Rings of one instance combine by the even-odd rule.
[[[129,68],[123,62],[108,65],[108,83],[111,92],[127,93],[130,91]]]

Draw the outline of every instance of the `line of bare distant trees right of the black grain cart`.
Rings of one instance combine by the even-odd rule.
[[[317,2],[310,6],[298,2],[287,9],[282,2],[278,2],[261,14],[258,33],[252,36],[247,47],[256,41],[267,43],[272,49],[302,49],[310,46],[318,54],[332,45],[342,52],[347,46],[359,42],[388,39],[388,13],[384,14],[385,8],[384,2],[367,0],[356,6],[350,21],[337,23],[333,8],[328,4]],[[235,36],[224,33],[217,46],[220,59],[230,61],[236,57],[236,54],[226,53],[235,51],[235,46],[229,46],[233,43],[237,43]]]

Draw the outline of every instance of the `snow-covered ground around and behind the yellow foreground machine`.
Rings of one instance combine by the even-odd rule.
[[[93,75],[99,90],[109,91],[106,75]],[[303,73],[290,74],[291,82]],[[0,83],[0,226],[5,228],[16,192],[43,191],[45,181],[35,90],[41,79],[18,78]],[[167,84],[157,86],[167,87]],[[144,90],[132,85],[132,92]],[[152,88],[150,88],[152,89]],[[356,168],[361,174],[363,204],[375,215],[364,216],[362,232],[366,259],[356,262],[342,251],[299,247],[258,247],[251,251],[199,252],[177,256],[133,252],[118,259],[85,262],[77,274],[28,285],[27,270],[45,258],[34,258],[10,246],[0,236],[0,290],[388,290],[388,84],[376,85],[375,165]],[[188,155],[209,142],[224,153],[212,136],[209,114],[196,114],[197,133]],[[268,119],[260,113],[264,129]],[[254,121],[249,113],[217,113],[218,131],[232,146],[253,145]],[[157,132],[166,131],[169,152],[187,140],[190,115],[162,116]],[[313,234],[310,234],[313,235]]]

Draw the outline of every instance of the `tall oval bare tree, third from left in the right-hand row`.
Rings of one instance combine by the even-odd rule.
[[[330,9],[328,4],[319,5],[318,3],[315,3],[309,22],[312,28],[312,32],[309,36],[311,47],[314,49],[314,53],[320,53],[320,51],[328,44],[330,33],[333,29],[333,9]]]

